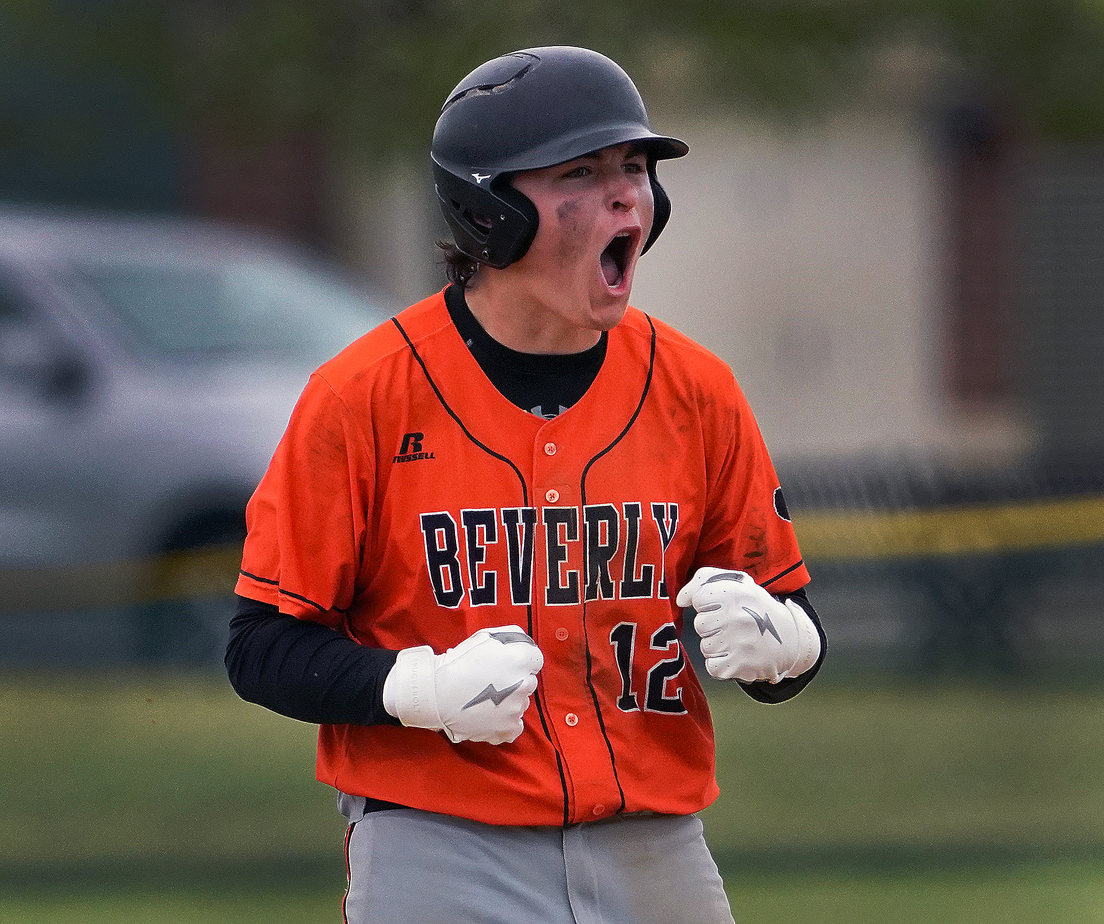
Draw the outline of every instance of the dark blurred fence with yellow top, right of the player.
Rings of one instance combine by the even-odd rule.
[[[783,484],[834,660],[1007,676],[1104,665],[1104,460],[852,461]]]

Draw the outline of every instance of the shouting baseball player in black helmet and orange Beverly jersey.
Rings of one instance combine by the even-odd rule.
[[[311,376],[250,503],[226,663],[321,726],[348,922],[732,922],[682,610],[763,702],[825,640],[731,371],[628,306],[687,150],[584,49],[465,77],[449,285]]]

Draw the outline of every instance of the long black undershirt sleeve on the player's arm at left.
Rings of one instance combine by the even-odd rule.
[[[317,724],[399,725],[383,708],[396,651],[240,596],[230,623],[226,673],[234,691],[280,715]]]

